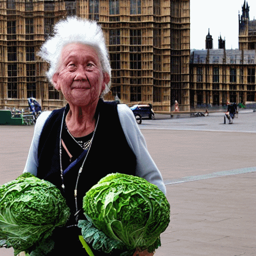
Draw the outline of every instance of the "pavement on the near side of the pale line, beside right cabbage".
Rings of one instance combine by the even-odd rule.
[[[167,185],[171,221],[156,256],[256,255],[256,172]]]

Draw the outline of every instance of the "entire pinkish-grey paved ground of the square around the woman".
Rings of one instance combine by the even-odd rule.
[[[240,114],[234,120],[236,126],[226,124],[234,132],[223,131],[220,121],[216,124],[221,116],[213,116],[142,120],[139,126],[168,183],[171,221],[156,256],[256,255],[256,113]],[[246,122],[249,132],[239,128],[246,127]],[[32,126],[0,126],[0,184],[21,173],[32,132]],[[244,167],[252,168],[247,173],[207,178],[212,172],[239,173]],[[172,182],[196,175],[204,178]],[[0,256],[11,255],[11,249],[0,249]]]

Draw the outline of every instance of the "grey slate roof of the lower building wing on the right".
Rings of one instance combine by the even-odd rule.
[[[191,50],[191,64],[256,64],[255,50],[202,49]]]

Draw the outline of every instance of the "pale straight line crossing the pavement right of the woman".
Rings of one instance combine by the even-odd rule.
[[[186,176],[186,177],[176,178],[172,180],[163,180],[163,182],[164,182],[164,185],[172,185],[172,184],[183,183],[188,181],[197,181],[197,180],[202,180],[207,178],[215,178],[215,177],[242,174],[242,173],[255,172],[255,171],[256,171],[256,166],[245,167],[245,168],[238,168],[238,169],[232,169],[232,170],[217,171],[217,172],[212,172],[212,173],[203,174],[203,175]]]

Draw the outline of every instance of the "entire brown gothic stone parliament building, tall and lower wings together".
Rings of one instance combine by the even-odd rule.
[[[111,64],[111,91],[132,105],[151,103],[168,113],[179,109],[256,101],[256,20],[245,2],[238,15],[239,49],[226,49],[210,30],[204,50],[190,51],[189,0],[0,0],[0,108],[42,109],[65,105],[45,77],[48,64],[36,55],[53,25],[76,15],[102,27]]]

